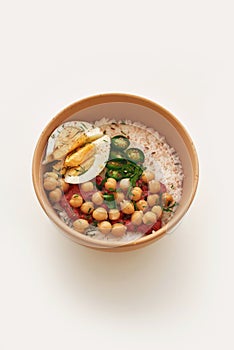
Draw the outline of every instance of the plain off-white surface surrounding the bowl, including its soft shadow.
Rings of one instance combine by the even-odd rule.
[[[232,1],[1,1],[0,349],[233,349]],[[70,103],[152,99],[200,160],[180,227],[129,253],[62,236],[31,181],[37,139]]]

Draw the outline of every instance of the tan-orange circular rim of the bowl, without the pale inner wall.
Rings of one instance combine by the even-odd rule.
[[[192,192],[190,194],[189,199],[184,203],[181,212],[176,217],[173,216],[172,219],[166,225],[160,228],[158,231],[154,231],[154,233],[151,233],[150,235],[143,236],[141,238],[138,238],[137,240],[130,241],[130,242],[119,242],[119,241],[108,242],[106,240],[103,240],[103,241],[97,240],[70,228],[55,213],[43,189],[41,188],[42,186],[40,186],[40,179],[41,179],[40,162],[41,162],[43,150],[45,149],[46,143],[48,141],[48,137],[50,136],[52,131],[57,126],[59,126],[62,122],[64,122],[67,118],[71,117],[74,113],[77,113],[85,108],[92,107],[98,104],[113,103],[113,102],[133,103],[133,104],[141,105],[143,107],[148,107],[154,110],[155,112],[161,114],[164,118],[166,118],[167,121],[176,128],[176,130],[179,132],[180,136],[182,137],[183,142],[185,143],[186,148],[189,152],[189,156],[190,156],[192,168],[193,168]],[[127,249],[129,248],[129,250],[131,249],[131,247],[133,249],[137,249],[137,248],[140,248],[141,246],[145,246],[147,244],[152,243],[152,241],[159,239],[160,237],[168,233],[168,231],[175,228],[175,226],[181,221],[181,219],[186,214],[186,212],[188,211],[189,207],[193,202],[193,199],[197,191],[198,180],[199,180],[199,162],[198,162],[197,152],[190,135],[188,134],[187,130],[182,125],[182,123],[171,112],[169,112],[167,109],[165,109],[158,103],[151,101],[148,98],[145,98],[142,96],[137,96],[137,95],[128,94],[128,93],[120,93],[120,92],[103,93],[103,94],[88,96],[73,102],[72,104],[68,105],[63,110],[61,110],[59,113],[57,113],[43,129],[37,141],[34,154],[33,154],[33,160],[32,160],[32,181],[33,181],[34,191],[46,215],[68,237],[75,240],[79,244],[84,245],[86,247],[99,249],[99,250],[106,249],[106,251],[111,249],[121,250],[122,247],[126,247]]]

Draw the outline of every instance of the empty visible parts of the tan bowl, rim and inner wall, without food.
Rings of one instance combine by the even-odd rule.
[[[60,124],[70,120],[95,121],[101,117],[115,119],[130,119],[144,123],[166,137],[170,146],[175,148],[180,156],[183,170],[183,195],[180,205],[169,223],[157,232],[128,243],[114,243],[95,240],[69,228],[53,210],[42,185],[41,161],[45,147],[52,131]],[[110,93],[91,96],[73,103],[65,108],[46,126],[42,132],[33,158],[33,184],[37,198],[48,217],[71,239],[77,243],[104,251],[129,251],[153,243],[166,233],[170,233],[181,221],[189,209],[196,193],[198,184],[198,158],[193,142],[183,125],[166,109],[155,102],[142,97]]]

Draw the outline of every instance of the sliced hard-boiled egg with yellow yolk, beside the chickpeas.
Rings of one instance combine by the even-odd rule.
[[[51,134],[43,164],[65,175],[65,181],[80,184],[93,179],[104,169],[110,153],[110,137],[92,124],[71,121]]]

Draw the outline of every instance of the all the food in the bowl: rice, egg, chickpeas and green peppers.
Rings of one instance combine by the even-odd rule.
[[[183,167],[156,130],[132,120],[69,121],[48,139],[43,187],[60,219],[97,240],[129,242],[173,217]]]

